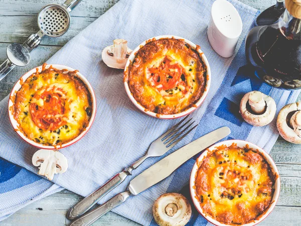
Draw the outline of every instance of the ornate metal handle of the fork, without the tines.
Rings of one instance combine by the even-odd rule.
[[[97,201],[99,201],[104,195],[106,195],[113,188],[118,186],[128,175],[126,171],[119,172],[113,176],[109,181],[102,185],[99,189],[95,190],[92,194],[85,197],[78,203],[76,203],[67,213],[68,219],[75,219],[88,211]]]

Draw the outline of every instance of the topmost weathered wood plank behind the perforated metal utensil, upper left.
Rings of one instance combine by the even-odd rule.
[[[1,15],[37,16],[40,9],[49,3],[63,3],[65,0],[0,0]],[[71,16],[98,18],[118,0],[82,0],[70,13]],[[14,7],[12,7],[14,5]]]

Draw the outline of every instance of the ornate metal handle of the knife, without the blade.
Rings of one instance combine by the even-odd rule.
[[[103,216],[105,213],[125,202],[125,200],[131,195],[131,193],[127,190],[116,194],[107,202],[99,205],[95,209],[83,214],[78,219],[74,220],[70,226],[88,226],[94,223],[98,218]]]

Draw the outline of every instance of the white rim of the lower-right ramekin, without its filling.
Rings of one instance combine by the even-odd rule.
[[[270,204],[269,208],[265,211],[265,213],[263,215],[261,215],[261,217],[259,219],[256,219],[253,222],[241,225],[241,226],[254,226],[254,225],[260,223],[262,220],[264,220],[271,213],[271,211],[274,209],[274,207],[276,205],[276,202],[277,202],[277,200],[279,198],[279,194],[280,194],[280,177],[279,177],[279,172],[278,172],[278,169],[277,169],[277,166],[276,166],[274,160],[272,159],[272,157],[266,151],[264,151],[261,147],[257,146],[254,143],[251,143],[251,142],[248,142],[248,141],[245,141],[245,140],[240,140],[240,139],[229,139],[229,140],[218,142],[218,143],[213,144],[212,146],[208,147],[197,158],[197,160],[196,160],[196,162],[195,162],[195,164],[194,164],[194,166],[191,170],[191,175],[190,175],[190,195],[191,195],[191,199],[192,199],[196,209],[198,210],[198,212],[205,219],[207,219],[209,222],[211,222],[212,224],[217,225],[217,226],[229,226],[229,225],[231,225],[231,224],[220,223],[216,219],[213,219],[209,214],[204,213],[204,211],[203,211],[203,209],[200,205],[200,202],[195,197],[196,196],[196,190],[195,190],[194,186],[195,186],[196,174],[198,172],[198,165],[197,165],[198,160],[201,159],[200,162],[203,161],[203,159],[207,156],[208,152],[212,151],[216,147],[221,146],[221,145],[230,146],[232,143],[237,143],[237,145],[239,147],[244,147],[246,144],[248,144],[250,148],[258,149],[259,152],[264,155],[265,159],[267,160],[267,162],[271,166],[273,173],[274,174],[276,173],[278,175],[277,179],[275,180],[275,184],[274,184],[275,191],[274,191],[274,195],[273,195],[273,198],[272,198],[272,203]]]

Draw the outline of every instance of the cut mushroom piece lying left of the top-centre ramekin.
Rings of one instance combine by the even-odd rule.
[[[127,47],[127,40],[115,39],[113,45],[107,46],[102,50],[101,58],[109,67],[124,69],[126,60],[131,52],[132,50]]]

